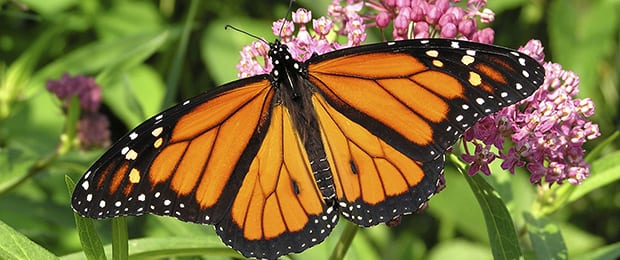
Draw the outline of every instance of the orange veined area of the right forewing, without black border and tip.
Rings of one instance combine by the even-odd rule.
[[[465,97],[465,86],[457,79],[405,53],[344,56],[310,64],[308,71],[326,98],[421,147],[434,141],[434,125],[448,120],[448,102]]]

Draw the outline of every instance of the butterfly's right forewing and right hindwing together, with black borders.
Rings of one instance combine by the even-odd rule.
[[[339,205],[365,226],[414,212],[460,134],[544,77],[527,55],[444,39],[365,45],[307,63]]]

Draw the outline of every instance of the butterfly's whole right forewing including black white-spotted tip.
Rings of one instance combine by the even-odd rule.
[[[419,161],[544,80],[522,53],[446,39],[365,45],[308,63],[309,80],[336,110]]]

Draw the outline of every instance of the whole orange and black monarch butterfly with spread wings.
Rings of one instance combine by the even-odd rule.
[[[530,96],[544,69],[514,50],[447,39],[292,58],[146,120],[77,183],[72,207],[213,224],[247,257],[323,241],[339,216],[373,226],[418,210],[444,152],[481,117]]]

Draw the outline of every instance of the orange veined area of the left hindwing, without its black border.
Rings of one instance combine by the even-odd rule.
[[[291,116],[283,105],[276,105],[233,202],[232,221],[246,240],[274,239],[304,229],[324,207]]]

